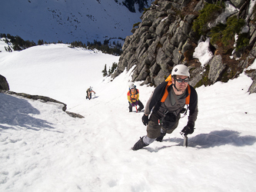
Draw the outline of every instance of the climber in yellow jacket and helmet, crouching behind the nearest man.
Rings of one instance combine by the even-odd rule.
[[[139,101],[139,92],[135,84],[131,84],[129,91],[127,93],[128,103],[129,103],[129,112],[132,111],[132,107],[139,106],[138,111],[141,111],[144,108],[144,105]]]

